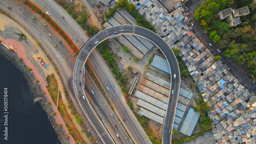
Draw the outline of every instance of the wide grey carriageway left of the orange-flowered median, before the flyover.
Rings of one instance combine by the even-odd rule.
[[[2,7],[3,9],[6,8],[6,1],[0,1],[0,7]],[[12,3],[10,3],[12,2]],[[9,6],[12,7],[12,11],[10,11],[9,13],[13,16],[16,17],[16,19],[18,20],[18,22],[23,25],[26,26],[29,30],[29,32],[32,34],[32,36],[35,37],[35,39],[37,41],[41,42],[41,45],[44,46],[45,50],[49,53],[49,54],[56,54],[57,57],[61,58],[66,58],[66,57],[70,57],[71,55],[71,51],[68,49],[62,50],[59,49],[61,47],[68,47],[67,43],[63,43],[60,47],[58,45],[58,39],[59,36],[55,33],[55,30],[52,26],[44,26],[44,23],[46,23],[46,21],[44,19],[41,19],[39,17],[38,14],[34,14],[34,12],[31,9],[27,9],[27,6],[25,6],[24,3],[22,2],[17,2],[11,0],[10,2],[8,2]],[[22,13],[21,13],[22,12]],[[33,19],[32,16],[35,16],[36,19]],[[36,26],[36,27],[35,27]],[[50,37],[48,34],[51,34],[52,37]],[[57,44],[57,47],[54,47],[54,43]],[[54,56],[55,57],[55,56]],[[53,57],[53,58],[54,58]],[[73,57],[73,56],[72,56]],[[71,62],[71,61],[70,61]],[[74,63],[75,60],[72,60],[72,63]],[[63,63],[63,61],[61,61],[61,63]],[[72,69],[71,67],[73,66],[69,65],[69,68]],[[66,66],[65,66],[66,67]],[[72,75],[72,71],[70,73]]]

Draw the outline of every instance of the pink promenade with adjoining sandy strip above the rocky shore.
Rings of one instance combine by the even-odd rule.
[[[15,21],[13,21],[12,19],[9,19],[7,21],[7,18],[5,15],[0,14],[0,30],[1,30],[1,34],[0,34],[0,40],[3,41],[7,46],[12,46],[17,52],[16,54],[18,55],[19,58],[22,58],[23,61],[28,65],[28,67],[30,67],[34,73],[34,75],[36,76],[36,79],[39,80],[39,83],[42,87],[42,89],[46,92],[47,98],[49,100],[49,102],[52,105],[53,110],[56,112],[56,115],[54,116],[55,121],[57,124],[61,124],[63,129],[65,130],[66,134],[69,136],[70,142],[71,143],[75,143],[75,140],[73,138],[72,135],[69,134],[69,131],[67,129],[67,126],[65,124],[65,121],[63,121],[63,118],[61,117],[58,108],[55,106],[50,93],[48,92],[46,86],[47,86],[47,82],[46,82],[46,76],[50,75],[50,74],[54,74],[55,78],[58,81],[58,85],[59,85],[59,89],[63,89],[62,88],[62,84],[60,83],[60,79],[58,78],[53,65],[50,63],[50,61],[47,59],[46,55],[40,50],[40,47],[37,45],[36,41],[33,39],[33,37],[24,30],[24,28],[22,28],[20,25],[18,25],[18,23],[16,23]],[[11,30],[7,29],[7,31],[5,31],[5,27],[12,27]],[[12,33],[11,31],[13,29],[17,30],[22,30],[22,33],[24,33],[27,36],[27,39],[29,39],[29,42],[21,42],[20,40],[17,41],[18,37],[16,37],[15,33]],[[4,33],[4,35],[3,35]],[[6,33],[8,33],[7,38],[4,38],[4,36],[6,35]],[[10,36],[14,35],[14,36]],[[25,49],[26,46],[26,49]],[[35,47],[35,48],[32,48]],[[38,50],[37,54],[34,54],[33,50]],[[39,63],[36,61],[37,57],[41,57],[43,58],[46,63],[49,65],[49,68],[45,68],[42,69],[39,65]],[[63,100],[67,103],[67,100]]]

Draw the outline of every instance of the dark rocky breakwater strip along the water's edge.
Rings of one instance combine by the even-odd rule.
[[[50,119],[52,123],[52,127],[54,128],[56,134],[58,135],[58,138],[61,143],[71,143],[70,140],[67,138],[67,134],[63,130],[61,126],[59,126],[56,122],[54,117],[52,116],[52,113],[54,112],[51,108],[51,105],[49,105],[47,102],[47,97],[45,94],[42,94],[42,90],[39,86],[39,83],[35,82],[35,77],[32,71],[28,71],[28,66],[23,62],[19,61],[18,56],[14,52],[9,52],[8,49],[0,43],[0,53],[4,55],[9,61],[11,61],[23,74],[25,79],[28,81],[31,90],[33,91],[35,98],[41,97],[42,99],[38,101],[42,108],[46,111],[48,118]]]

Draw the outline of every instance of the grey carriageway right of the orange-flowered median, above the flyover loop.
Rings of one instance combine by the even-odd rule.
[[[51,17],[52,19],[54,19],[54,21],[57,22],[57,24],[79,46],[79,48],[89,39],[86,36],[86,33],[83,31],[83,29],[78,25],[78,23],[67,13],[66,10],[59,6],[55,1],[32,0],[32,2],[39,6],[44,12],[49,12],[49,17]],[[74,37],[77,37],[78,40],[74,40]]]

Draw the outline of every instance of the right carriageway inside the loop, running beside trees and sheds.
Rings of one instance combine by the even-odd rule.
[[[95,51],[95,50],[94,50]],[[105,76],[111,76],[113,75],[111,71],[105,67],[102,66],[106,64],[104,61],[100,60],[102,59],[100,57],[100,54],[96,54],[96,52],[93,53],[93,57],[89,56],[89,61],[92,66],[92,68],[97,71],[97,77],[101,80],[101,83],[104,87],[111,86],[111,85],[117,85],[116,81],[113,79],[113,77],[108,77],[108,79],[105,78]],[[112,81],[112,82],[110,82]],[[127,130],[130,132],[130,134],[133,136],[133,139],[137,143],[148,143],[148,141],[145,141],[146,138],[143,140],[143,136],[140,136],[142,133],[145,133],[144,130],[141,128],[140,124],[137,122],[137,119],[131,112],[130,108],[126,105],[124,98],[122,97],[123,93],[121,92],[121,89],[119,87],[115,87],[113,90],[110,87],[110,91],[106,90],[109,94],[109,97],[111,99],[111,102],[113,103],[118,115],[120,116],[120,119],[125,118],[126,121],[123,123],[126,125]],[[125,109],[126,108],[126,109]]]

